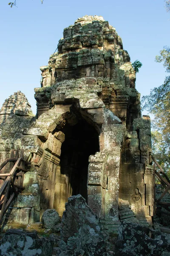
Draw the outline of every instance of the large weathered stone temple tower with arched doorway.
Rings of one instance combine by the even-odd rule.
[[[15,112],[1,125],[1,160],[17,141],[31,161],[16,204],[35,209],[34,222],[47,208],[62,216],[68,197],[81,194],[110,227],[134,216],[151,221],[150,118],[141,117],[136,74],[115,28],[101,16],[77,19],[40,70],[37,116]]]

